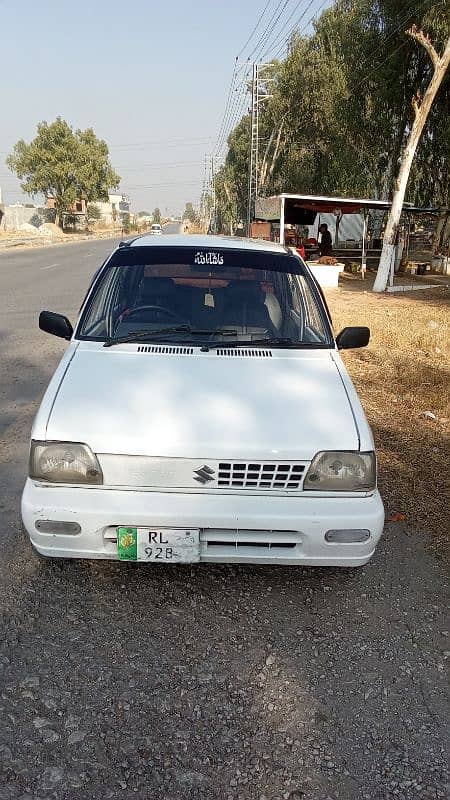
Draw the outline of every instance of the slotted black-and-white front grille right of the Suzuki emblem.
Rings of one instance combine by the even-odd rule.
[[[305,464],[221,461],[217,485],[241,489],[300,489]]]

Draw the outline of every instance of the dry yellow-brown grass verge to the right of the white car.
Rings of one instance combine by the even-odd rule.
[[[327,300],[336,332],[371,329],[369,347],[343,355],[374,433],[387,516],[405,514],[448,556],[449,292],[369,289],[345,275]]]

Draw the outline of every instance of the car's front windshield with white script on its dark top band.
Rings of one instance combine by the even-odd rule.
[[[320,292],[293,255],[123,247],[94,282],[77,336],[196,345],[333,345]]]

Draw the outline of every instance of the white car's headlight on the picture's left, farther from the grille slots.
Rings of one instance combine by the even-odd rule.
[[[30,478],[50,483],[103,483],[97,456],[87,444],[31,442]]]

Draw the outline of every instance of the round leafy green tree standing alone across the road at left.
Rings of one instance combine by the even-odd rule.
[[[24,192],[55,199],[57,223],[76,200],[107,201],[108,191],[120,183],[106,142],[92,128],[74,131],[61,117],[40,122],[33,141],[20,139],[6,163]]]

